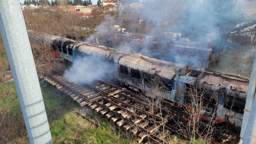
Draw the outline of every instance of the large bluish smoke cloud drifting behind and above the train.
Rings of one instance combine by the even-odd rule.
[[[172,35],[168,35],[169,32],[187,35],[189,32],[196,32],[204,28],[218,27],[232,21],[234,16],[236,18],[242,16],[231,1],[219,0],[140,0],[140,3],[132,3],[121,11],[120,17],[106,15],[105,21],[96,27],[97,34],[93,34],[91,37],[99,38],[99,43],[92,40],[87,42],[184,65],[193,64],[196,67],[201,67],[199,64],[201,58],[189,60],[188,57],[181,56],[179,53],[166,53],[163,50],[156,50],[154,47],[160,47],[161,43],[171,44]],[[116,32],[109,30],[113,25],[126,28],[129,33],[140,33],[148,37],[140,38],[143,44],[138,44],[138,40],[118,40]],[[138,39],[138,37],[136,38]],[[158,44],[147,43],[146,39],[147,41],[157,41]],[[166,48],[168,49],[170,46]],[[168,56],[162,56],[163,54]],[[204,54],[197,53],[194,57],[202,55]]]

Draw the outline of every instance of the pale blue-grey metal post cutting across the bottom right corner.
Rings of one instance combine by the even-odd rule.
[[[248,124],[244,133],[243,144],[255,143],[256,141],[256,99],[253,101]]]

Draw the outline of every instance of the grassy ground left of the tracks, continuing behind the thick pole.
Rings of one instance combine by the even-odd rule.
[[[116,131],[108,122],[103,121],[96,127],[76,114],[79,107],[71,98],[61,94],[56,88],[41,83],[46,114],[50,124],[53,143],[92,143],[126,144],[134,143],[121,132]],[[14,82],[0,85],[0,143],[29,143],[28,135],[20,109]],[[92,116],[92,119],[96,117]],[[99,121],[99,120],[98,120]]]

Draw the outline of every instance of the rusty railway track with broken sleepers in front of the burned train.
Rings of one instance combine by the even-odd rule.
[[[78,85],[65,80],[61,73],[47,75],[44,80],[69,95],[80,106],[89,106],[116,127],[132,133],[138,142],[169,143],[167,136],[175,131],[160,115],[159,109],[126,94],[125,88],[101,80]]]

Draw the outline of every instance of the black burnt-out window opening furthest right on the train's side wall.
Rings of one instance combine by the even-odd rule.
[[[240,100],[239,98],[232,96],[225,96],[223,101],[223,107],[231,109],[240,114],[244,114],[245,100]]]

